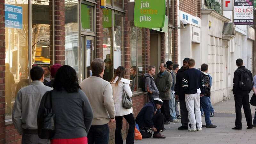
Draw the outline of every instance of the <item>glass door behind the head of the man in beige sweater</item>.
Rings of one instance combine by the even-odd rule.
[[[92,75],[91,62],[94,59],[94,37],[81,35],[82,80]]]

